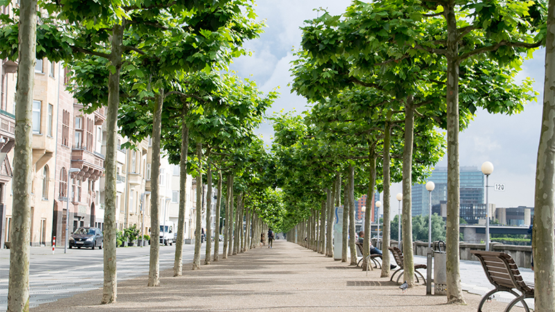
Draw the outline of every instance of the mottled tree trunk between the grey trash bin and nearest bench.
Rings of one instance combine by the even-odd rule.
[[[443,7],[447,21],[447,303],[464,303],[459,268],[459,44],[454,0]]]

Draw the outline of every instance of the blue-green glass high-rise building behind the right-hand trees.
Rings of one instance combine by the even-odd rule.
[[[459,168],[461,185],[461,207],[472,209],[474,205],[484,204],[484,174],[476,166]],[[447,201],[447,167],[437,167],[428,178],[436,184],[432,191],[432,206]],[[412,215],[428,215],[429,192],[425,184],[415,184],[412,188]],[[485,215],[485,211],[484,211]]]

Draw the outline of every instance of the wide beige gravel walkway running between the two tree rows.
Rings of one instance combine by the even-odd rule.
[[[425,286],[402,293],[379,270],[368,272],[334,261],[287,241],[256,248],[172,277],[164,270],[160,287],[146,277],[122,281],[115,304],[100,305],[102,290],[80,293],[31,311],[476,311],[480,296],[464,293],[467,305],[426,296]],[[502,311],[505,303],[486,303]],[[512,311],[522,311],[515,307]]]

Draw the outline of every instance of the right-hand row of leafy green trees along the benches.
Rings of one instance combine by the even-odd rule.
[[[550,14],[553,6],[554,1],[549,1]],[[545,1],[354,1],[343,15],[324,11],[321,17],[306,21],[298,59],[293,62],[292,87],[314,106],[303,119],[275,119],[276,155],[291,171],[284,186],[290,197],[287,205],[304,211],[304,215],[299,214],[298,229],[308,236],[319,231],[323,239],[326,226],[322,220],[333,218],[329,214],[330,196],[341,197],[332,186],[338,184],[341,174],[348,177],[343,184],[345,201],[349,201],[345,206],[352,209],[355,167],[357,174],[366,177],[355,180],[354,185],[368,187],[368,200],[376,189],[384,191],[386,220],[390,218],[389,185],[402,182],[404,279],[412,285],[411,185],[425,179],[427,168],[443,156],[446,143],[447,302],[462,303],[459,131],[468,126],[476,107],[514,114],[535,98],[537,93],[529,80],[515,83],[513,78],[522,61],[545,45],[547,38],[545,110],[536,184],[536,209],[543,214],[536,214],[540,218],[534,220],[533,237],[535,259],[540,256],[541,268],[553,272],[554,121],[549,116],[554,112],[554,94],[550,89],[549,40],[554,38],[545,31],[552,23],[547,9]],[[446,130],[445,143],[436,129]],[[377,159],[382,162],[377,164]],[[299,177],[305,179],[301,185],[294,181]],[[314,204],[303,209],[299,202],[305,202],[307,196],[312,196]],[[366,232],[369,215],[364,223]],[[344,236],[346,225],[343,220]],[[390,231],[385,223],[384,245],[388,245]],[[537,250],[548,252],[540,255]],[[368,237],[364,242],[366,255]],[[384,261],[388,261],[387,256]],[[384,266],[382,276],[387,271]],[[539,311],[555,307],[549,295],[553,286],[547,285],[551,274],[536,274],[536,287],[542,290],[536,293]]]

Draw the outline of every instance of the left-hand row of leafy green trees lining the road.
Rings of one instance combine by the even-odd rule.
[[[117,300],[118,131],[130,139],[126,148],[152,138],[152,229],[160,227],[160,154],[165,150],[173,164],[180,164],[178,242],[184,238],[187,174],[196,178],[193,269],[200,267],[202,184],[207,184],[209,194],[217,184],[216,207],[225,206],[224,259],[255,247],[266,224],[282,222],[280,193],[268,188],[275,184],[272,157],[253,134],[277,94],[263,94],[253,81],[225,73],[232,58],[246,53],[242,44],[262,31],[264,25],[255,17],[249,0],[70,0],[41,1],[38,6],[36,0],[23,0],[13,14],[2,15],[0,56],[19,61],[8,311],[28,311],[31,103],[37,58],[67,64],[69,89],[86,112],[108,107],[103,304]],[[211,201],[207,196],[206,207]],[[271,214],[266,202],[273,208]],[[208,237],[210,219],[207,209]],[[216,237],[219,219],[216,215]],[[207,242],[205,264],[219,260],[219,241],[215,240],[214,257]],[[151,244],[148,286],[160,284],[159,248]],[[182,274],[180,243],[173,273]]]

